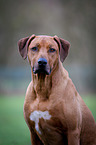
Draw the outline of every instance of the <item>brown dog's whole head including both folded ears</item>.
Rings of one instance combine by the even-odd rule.
[[[22,38],[18,42],[19,52],[29,63],[34,74],[49,75],[58,62],[68,55],[70,43],[57,36],[35,36]]]

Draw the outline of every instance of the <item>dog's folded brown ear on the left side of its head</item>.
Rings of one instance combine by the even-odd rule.
[[[35,38],[35,35],[33,34],[31,37],[25,37],[18,41],[19,52],[21,56],[23,57],[23,59],[26,59],[28,45],[34,38]]]

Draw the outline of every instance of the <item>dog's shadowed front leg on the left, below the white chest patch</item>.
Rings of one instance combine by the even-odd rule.
[[[38,135],[34,132],[34,130],[31,130],[30,136],[32,145],[44,145],[42,141],[39,139]]]

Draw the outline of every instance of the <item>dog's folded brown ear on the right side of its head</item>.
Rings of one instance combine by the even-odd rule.
[[[60,60],[61,60],[61,62],[63,62],[68,55],[68,50],[69,50],[69,47],[70,47],[70,43],[67,40],[59,38],[57,36],[54,36],[53,38],[59,46]]]

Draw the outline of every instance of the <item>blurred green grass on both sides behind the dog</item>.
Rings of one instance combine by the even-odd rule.
[[[84,96],[96,120],[96,96]],[[24,97],[0,96],[0,145],[31,145],[23,117]]]

